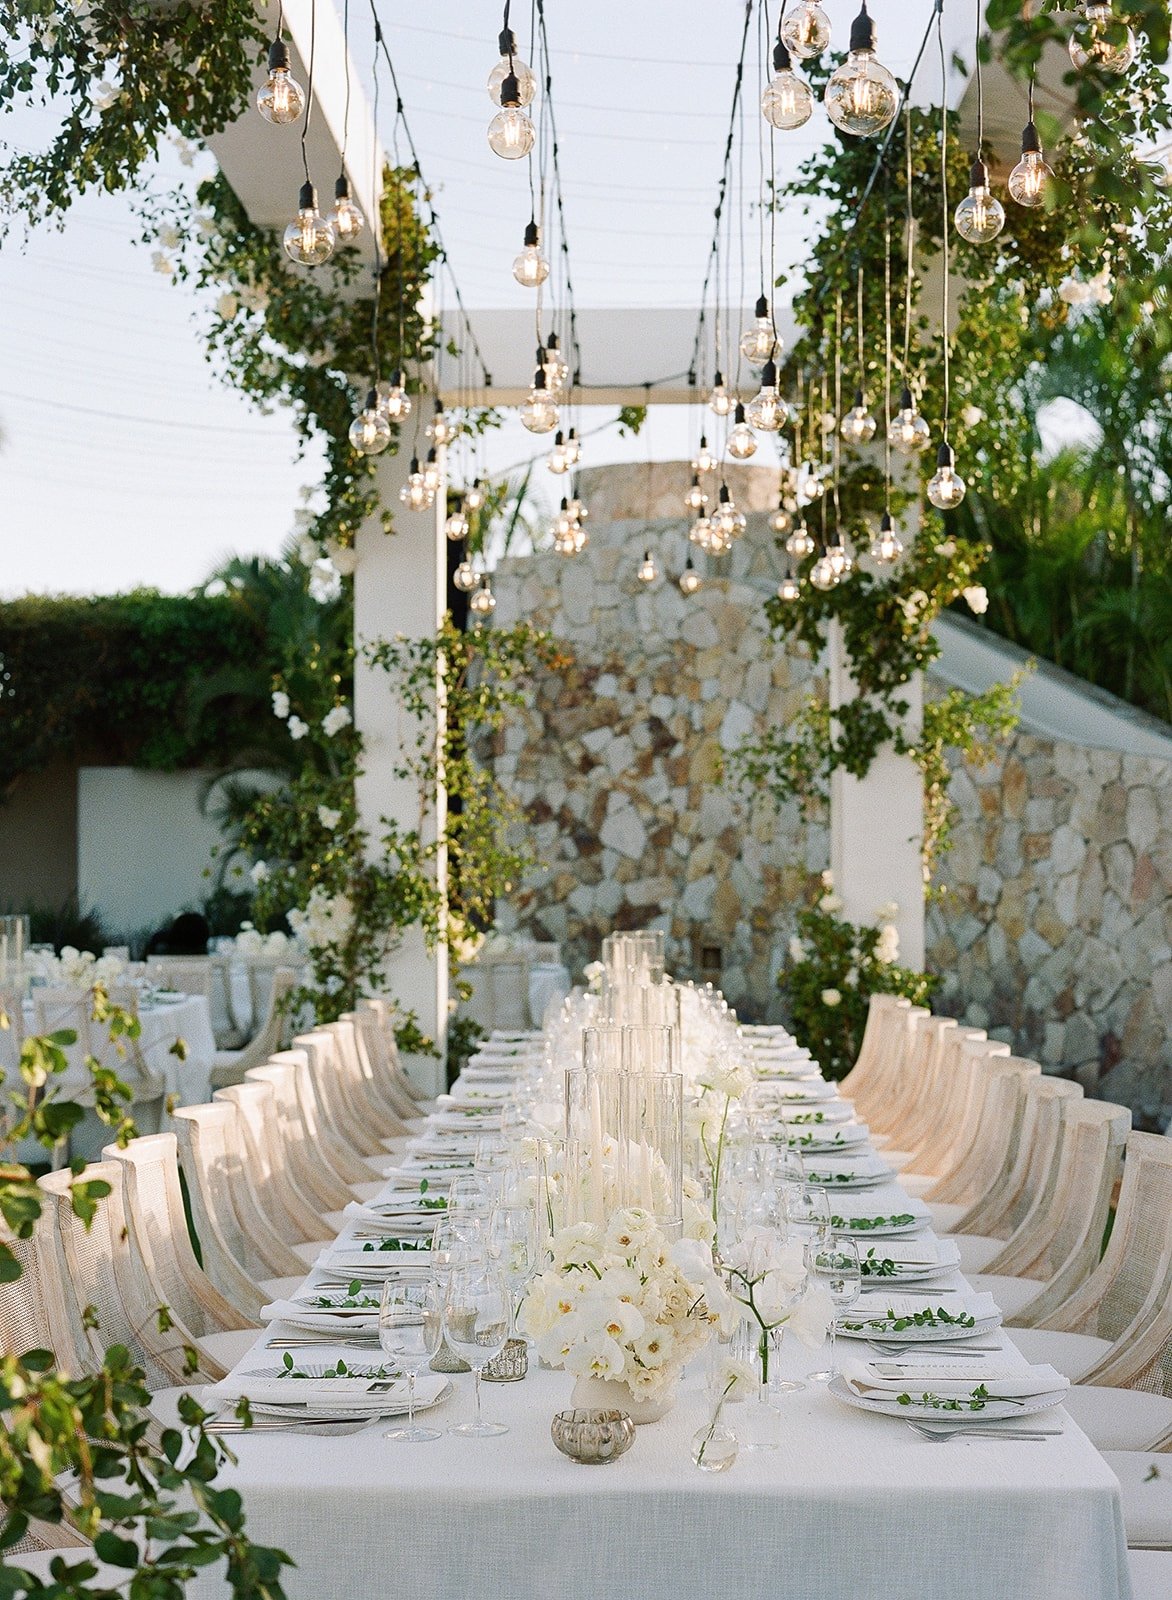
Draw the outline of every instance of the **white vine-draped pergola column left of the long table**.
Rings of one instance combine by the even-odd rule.
[[[426,397],[418,397],[421,405]],[[394,694],[391,678],[363,662],[368,640],[434,637],[447,605],[447,554],[444,504],[447,475],[440,477],[435,506],[410,512],[399,501],[407,478],[410,442],[400,453],[378,459],[378,491],[394,514],[395,531],[383,533],[376,518],[359,531],[359,566],[354,578],[354,722],[363,738],[363,771],[357,782],[359,818],[367,830],[373,858],[381,854],[381,818],[392,818],[405,829],[419,827],[419,792],[413,781],[395,776],[402,752],[413,752],[416,723]],[[439,685],[437,685],[439,686]],[[427,837],[445,824],[445,795],[434,797]],[[447,885],[447,862],[437,862],[440,890]],[[431,1094],[445,1082],[444,1050],[448,1024],[448,963],[444,949],[427,950],[418,928],[408,928],[387,960],[387,994],[413,1010],[424,1034],[435,1040],[439,1059],[407,1058],[411,1077]]]

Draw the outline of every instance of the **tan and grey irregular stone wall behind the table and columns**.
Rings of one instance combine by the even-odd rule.
[[[676,971],[777,1019],[777,971],[828,830],[793,805],[746,803],[719,771],[746,733],[789,722],[815,664],[778,645],[762,611],[780,576],[775,475],[737,469],[749,530],[690,600],[676,586],[687,482],[679,462],[586,472],[588,550],[498,568],[498,621],[549,627],[575,658],[496,752],[540,856],[501,925],[557,939],[575,971],[610,928],[663,926]],[[636,578],[645,549],[661,570],[652,589]],[[953,798],[927,925],[940,1006],[1166,1120],[1172,763],[1018,734],[988,766],[957,760]]]

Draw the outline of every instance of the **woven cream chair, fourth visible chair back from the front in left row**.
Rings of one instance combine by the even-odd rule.
[[[250,1226],[266,1237],[272,1230],[263,1218],[251,1216],[231,1138],[235,1120],[235,1107],[224,1102],[181,1106],[175,1114],[175,1136],[203,1270],[243,1317],[256,1322],[271,1299],[303,1282],[306,1267],[293,1256],[296,1266],[274,1278],[271,1256],[253,1248]],[[242,1222],[240,1210],[248,1222]]]

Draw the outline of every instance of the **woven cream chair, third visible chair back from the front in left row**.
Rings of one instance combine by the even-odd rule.
[[[195,1259],[175,1134],[131,1139],[125,1150],[110,1144],[102,1154],[122,1170],[131,1234],[155,1294],[194,1338],[200,1366],[226,1378],[255,1341],[256,1323],[219,1293]]]

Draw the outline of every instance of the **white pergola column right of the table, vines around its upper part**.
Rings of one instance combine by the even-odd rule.
[[[828,638],[831,709],[855,699],[850,658],[842,627],[831,624]],[[919,734],[924,712],[921,674],[900,690],[908,701],[905,730]],[[900,962],[924,965],[924,779],[906,755],[884,746],[866,778],[841,768],[831,776],[831,870],[844,902],[844,915],[873,923],[887,901],[900,907]]]

